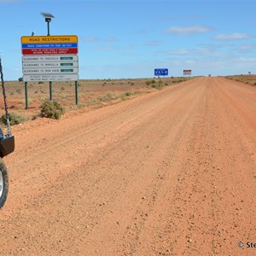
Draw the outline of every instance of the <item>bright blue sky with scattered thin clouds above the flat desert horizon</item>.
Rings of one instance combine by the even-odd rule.
[[[22,77],[22,36],[79,38],[79,79],[256,73],[256,0],[0,0],[5,80]]]

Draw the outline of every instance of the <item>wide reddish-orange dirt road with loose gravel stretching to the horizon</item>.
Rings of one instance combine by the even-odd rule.
[[[256,255],[256,87],[192,79],[13,133],[0,255]]]

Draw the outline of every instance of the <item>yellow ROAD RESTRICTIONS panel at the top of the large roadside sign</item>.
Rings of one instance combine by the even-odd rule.
[[[31,36],[21,37],[21,44],[78,43],[78,36]]]

